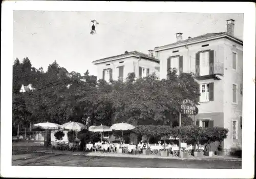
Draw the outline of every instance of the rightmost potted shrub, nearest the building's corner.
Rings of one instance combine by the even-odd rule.
[[[224,155],[222,148],[222,142],[227,138],[228,129],[224,127],[216,127],[216,138],[219,141],[218,151],[215,151],[216,155]]]

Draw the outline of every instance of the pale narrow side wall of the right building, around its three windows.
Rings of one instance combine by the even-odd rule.
[[[233,48],[236,45],[237,48]],[[237,70],[232,69],[232,52],[237,52]],[[224,148],[242,147],[242,128],[240,116],[242,116],[242,95],[240,86],[243,74],[243,46],[240,46],[228,39],[225,40],[225,81],[224,81],[224,127],[230,129],[228,137],[224,141]],[[232,103],[232,84],[237,84],[237,104]],[[232,139],[232,120],[237,121],[238,139]]]

